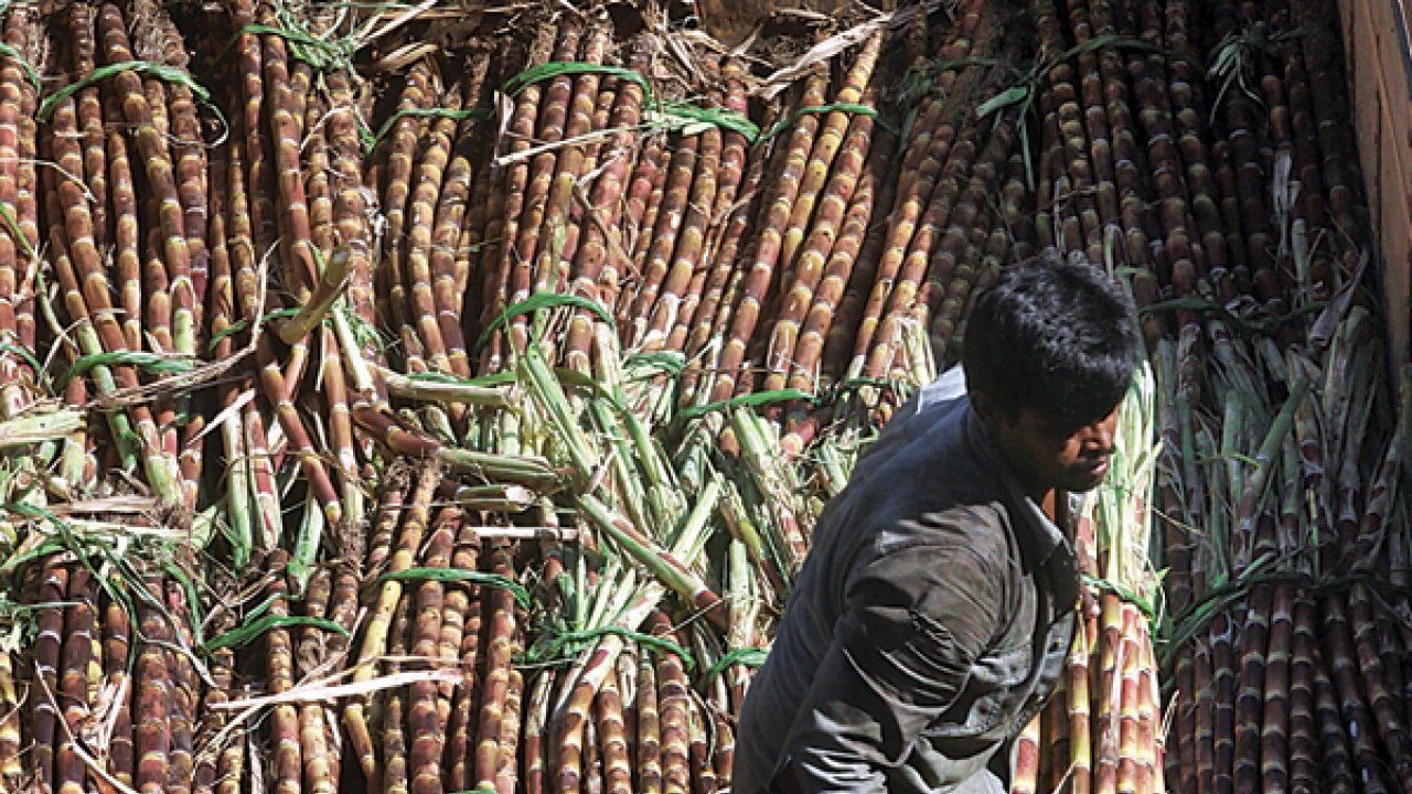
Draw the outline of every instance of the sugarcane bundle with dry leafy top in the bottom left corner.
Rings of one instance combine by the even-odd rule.
[[[199,572],[181,551],[193,538],[151,521],[150,500],[10,504],[27,519],[8,527],[28,531],[4,576],[32,612],[7,616],[8,629],[32,622],[37,634],[18,685],[7,665],[7,786],[210,790],[232,759],[208,715],[233,687],[230,651],[249,640],[226,633],[229,615],[206,612],[202,595],[229,582]]]

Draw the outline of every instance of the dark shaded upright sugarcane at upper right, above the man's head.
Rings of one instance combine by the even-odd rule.
[[[1348,136],[1332,133],[1347,117],[1310,100],[1337,81],[1329,35],[1308,35],[1327,28],[1320,11],[1091,1],[1031,13],[1039,243],[1137,268],[1139,304],[1163,307],[1145,316],[1149,340],[1204,298],[1248,295],[1285,316],[1356,277],[1365,233],[1348,201]],[[1189,32],[1193,16],[1211,18],[1202,30],[1214,38]],[[1282,343],[1298,339],[1282,331]]]

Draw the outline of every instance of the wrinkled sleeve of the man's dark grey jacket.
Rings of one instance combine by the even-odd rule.
[[[967,543],[912,545],[858,571],[785,740],[801,790],[884,791],[885,770],[966,685],[1001,592],[994,557]]]

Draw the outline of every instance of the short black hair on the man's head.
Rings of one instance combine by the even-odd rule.
[[[1137,309],[1115,280],[1041,259],[1007,267],[976,298],[962,343],[970,389],[1069,428],[1117,407],[1139,355]]]

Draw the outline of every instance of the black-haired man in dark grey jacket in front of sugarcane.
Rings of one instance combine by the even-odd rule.
[[[1017,264],[976,300],[960,370],[819,521],[746,698],[734,794],[1008,790],[1079,595],[1039,506],[1103,480],[1138,356],[1132,304],[1096,268]]]

